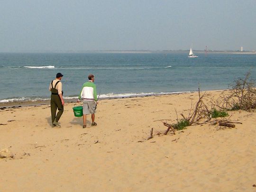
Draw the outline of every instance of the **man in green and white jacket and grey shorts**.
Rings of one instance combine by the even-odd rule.
[[[96,126],[97,123],[94,122],[96,105],[98,103],[96,85],[94,84],[94,75],[88,75],[88,82],[83,83],[80,95],[78,96],[77,102],[80,102],[80,99],[83,101],[82,107],[82,119],[83,127],[86,128],[86,115],[91,114],[91,126]]]

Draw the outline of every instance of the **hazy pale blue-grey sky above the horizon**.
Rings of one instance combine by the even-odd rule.
[[[256,50],[256,0],[0,0],[0,52]]]

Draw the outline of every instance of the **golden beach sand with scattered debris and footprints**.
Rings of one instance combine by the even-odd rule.
[[[98,125],[87,118],[84,129],[74,103],[61,128],[52,128],[49,105],[0,110],[0,149],[14,154],[0,159],[0,191],[255,192],[256,112],[228,111],[242,123],[235,128],[157,135],[167,129],[157,120],[175,123],[175,109],[181,119],[197,100],[197,92],[102,100]]]

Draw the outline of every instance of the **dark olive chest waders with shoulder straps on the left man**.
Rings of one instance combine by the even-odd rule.
[[[53,86],[53,81],[51,82],[52,84],[52,95],[51,95],[51,113],[52,113],[52,122],[56,121],[58,122],[63,111],[64,111],[64,106],[61,103],[61,99],[60,96],[58,94],[58,90],[56,89],[57,84],[60,81],[56,82],[55,87]],[[56,111],[57,109],[59,110],[57,115],[56,115]]]

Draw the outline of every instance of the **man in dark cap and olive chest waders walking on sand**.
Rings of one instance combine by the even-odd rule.
[[[51,113],[52,113],[52,123],[53,126],[61,127],[58,123],[63,111],[64,111],[64,100],[63,100],[63,91],[62,83],[60,82],[63,77],[63,74],[57,73],[56,79],[51,81],[49,90],[52,92],[51,95]],[[58,108],[58,113],[56,111]]]

